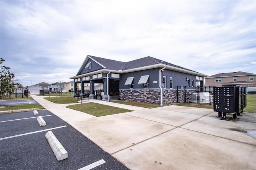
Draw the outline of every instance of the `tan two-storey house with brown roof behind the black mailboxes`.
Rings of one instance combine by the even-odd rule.
[[[206,86],[256,87],[256,74],[242,71],[219,73],[206,77]]]

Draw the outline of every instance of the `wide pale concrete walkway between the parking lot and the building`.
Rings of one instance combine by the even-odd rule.
[[[255,113],[222,121],[212,109],[171,105],[93,117],[32,97],[131,170],[256,169]]]

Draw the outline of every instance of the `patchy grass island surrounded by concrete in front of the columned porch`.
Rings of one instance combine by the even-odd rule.
[[[83,103],[78,105],[70,105],[70,106],[67,106],[67,108],[88,113],[96,117],[131,112],[131,110],[121,109],[118,107],[112,107],[108,105],[101,105],[98,103]]]

